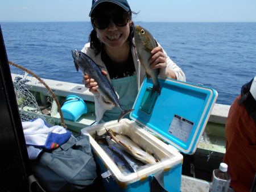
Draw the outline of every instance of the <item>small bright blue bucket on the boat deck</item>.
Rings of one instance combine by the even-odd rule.
[[[85,102],[76,95],[68,95],[61,107],[63,118],[75,122],[81,115],[86,114],[87,106]]]

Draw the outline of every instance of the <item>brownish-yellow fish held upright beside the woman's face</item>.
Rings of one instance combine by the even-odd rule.
[[[141,26],[136,26],[134,30],[134,41],[135,47],[137,49],[139,61],[141,62],[143,68],[146,72],[146,77],[149,79],[152,78],[153,87],[151,90],[150,97],[154,95],[155,91],[160,95],[161,87],[158,81],[159,69],[151,69],[148,60],[152,56],[152,49],[158,46],[158,43],[154,37]]]

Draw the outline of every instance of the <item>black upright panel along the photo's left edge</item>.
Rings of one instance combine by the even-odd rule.
[[[0,191],[28,191],[28,155],[0,25]]]

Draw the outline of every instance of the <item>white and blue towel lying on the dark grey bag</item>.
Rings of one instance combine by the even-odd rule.
[[[43,149],[57,148],[71,137],[71,132],[64,127],[48,127],[40,118],[32,122],[22,122],[22,127],[30,160],[35,160]]]

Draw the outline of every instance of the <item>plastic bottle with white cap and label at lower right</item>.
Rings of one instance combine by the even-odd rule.
[[[230,176],[228,174],[228,165],[222,162],[220,168],[212,172],[212,186],[210,192],[227,192],[229,190]]]

